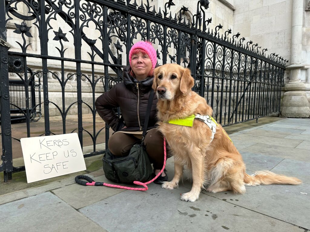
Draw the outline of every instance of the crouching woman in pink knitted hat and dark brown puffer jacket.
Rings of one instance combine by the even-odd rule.
[[[130,49],[129,63],[123,69],[123,81],[115,84],[95,102],[100,117],[115,131],[108,140],[108,148],[115,156],[127,156],[131,146],[142,138],[148,97],[153,91],[151,87],[157,63],[156,50],[150,42],[139,41]],[[160,172],[164,162],[163,136],[155,126],[156,103],[157,97],[154,94],[144,140],[155,175]],[[123,121],[113,111],[115,107],[121,108]],[[165,170],[154,183],[162,184],[167,179]]]

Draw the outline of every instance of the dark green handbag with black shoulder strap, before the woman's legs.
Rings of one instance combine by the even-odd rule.
[[[151,92],[148,98],[142,140],[131,147],[128,156],[114,156],[109,149],[104,154],[102,158],[103,170],[108,180],[116,183],[133,183],[134,181],[145,182],[150,179],[153,169],[144,147],[144,138],[148,128],[153,96],[154,92]]]

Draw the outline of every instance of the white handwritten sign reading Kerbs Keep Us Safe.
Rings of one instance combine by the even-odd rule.
[[[86,170],[77,133],[20,139],[27,183]]]

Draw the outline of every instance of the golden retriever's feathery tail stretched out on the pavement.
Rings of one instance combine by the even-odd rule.
[[[287,177],[277,175],[271,171],[264,170],[252,174],[244,174],[243,181],[246,185],[260,185],[260,184],[301,184],[301,180],[295,177]]]

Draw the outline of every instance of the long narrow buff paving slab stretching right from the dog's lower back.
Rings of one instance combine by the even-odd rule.
[[[265,136],[241,134],[236,136],[236,138],[240,139],[242,142],[247,141],[260,144],[276,144],[277,146],[290,147],[290,148],[294,148],[302,142],[302,140],[269,137],[268,134],[266,134]]]

